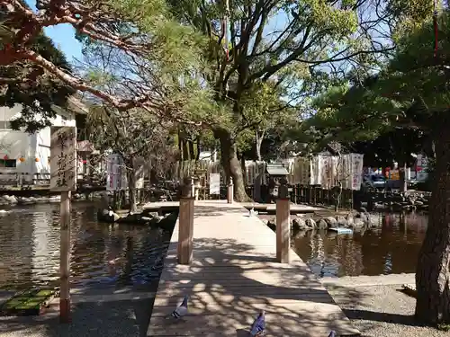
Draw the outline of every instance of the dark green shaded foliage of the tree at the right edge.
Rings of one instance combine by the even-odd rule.
[[[446,68],[450,55],[448,13],[441,13],[438,27],[437,58],[433,22],[428,18],[419,28],[399,37],[394,57],[379,75],[364,84],[334,87],[320,96],[315,101],[318,112],[305,123],[315,144],[321,146],[330,140],[347,145],[368,144],[383,137],[391,139],[400,130],[405,135],[389,147],[407,154],[423,150],[430,130],[439,124],[440,113],[446,113],[450,103],[450,70]],[[413,136],[406,137],[405,132]],[[397,158],[401,151],[395,153]]]

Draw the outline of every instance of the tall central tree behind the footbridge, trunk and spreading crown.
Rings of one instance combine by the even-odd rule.
[[[273,83],[286,101],[298,107],[329,84],[330,74],[352,65],[372,65],[390,49],[381,39],[380,22],[389,20],[383,2],[323,0],[170,0],[179,20],[209,40],[205,54],[211,68],[205,80],[224,106],[228,123],[213,125],[220,140],[222,164],[235,182],[235,197],[246,194],[236,143],[241,133],[270,119],[246,109],[246,93]],[[374,10],[377,10],[376,12]],[[372,12],[367,14],[368,12]],[[386,48],[387,47],[387,48]],[[254,96],[256,101],[258,96]],[[300,113],[299,113],[300,115]],[[258,130],[259,133],[261,132]]]

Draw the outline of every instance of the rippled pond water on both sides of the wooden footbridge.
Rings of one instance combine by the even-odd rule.
[[[380,215],[380,226],[354,235],[293,234],[293,249],[319,277],[414,272],[428,217]],[[170,233],[96,221],[93,204],[76,202],[71,223],[73,288],[153,287]],[[59,206],[39,204],[0,213],[0,289],[57,286]]]

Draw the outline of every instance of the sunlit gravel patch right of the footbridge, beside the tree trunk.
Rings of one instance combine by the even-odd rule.
[[[414,324],[415,298],[401,285],[327,286],[347,317],[365,337],[449,337],[449,332]]]

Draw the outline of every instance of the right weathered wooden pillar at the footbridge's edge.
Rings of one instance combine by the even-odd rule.
[[[291,250],[291,200],[285,178],[280,180],[276,200],[276,261],[289,263]]]

